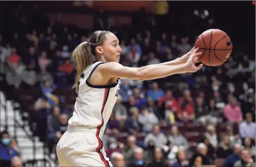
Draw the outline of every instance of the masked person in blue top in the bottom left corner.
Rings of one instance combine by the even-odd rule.
[[[0,133],[1,144],[0,144],[0,166],[11,166],[11,159],[18,156],[17,152],[11,148],[11,139],[7,131]]]

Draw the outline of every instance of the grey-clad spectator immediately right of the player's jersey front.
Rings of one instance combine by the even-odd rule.
[[[113,111],[115,113],[115,118],[117,121],[119,121],[121,124],[126,121],[127,119],[127,109],[122,104],[122,96],[118,95],[116,99],[116,103],[113,107]]]

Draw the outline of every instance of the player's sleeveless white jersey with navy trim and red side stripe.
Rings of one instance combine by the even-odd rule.
[[[89,126],[104,130],[115,105],[121,81],[108,86],[95,86],[88,82],[98,65],[97,61],[83,72],[79,80],[79,89],[74,104],[73,116],[68,124],[71,126]]]

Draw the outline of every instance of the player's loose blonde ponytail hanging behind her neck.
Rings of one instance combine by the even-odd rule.
[[[84,70],[87,70],[94,62],[94,57],[88,49],[88,42],[79,44],[72,53],[72,59],[77,64],[77,77],[73,88],[78,93],[79,80]]]

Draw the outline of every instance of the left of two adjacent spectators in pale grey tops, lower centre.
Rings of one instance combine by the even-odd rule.
[[[154,141],[156,147],[162,147],[167,144],[167,138],[160,132],[159,125],[155,125],[151,133],[148,133],[144,139],[144,144],[148,145],[149,141]]]

